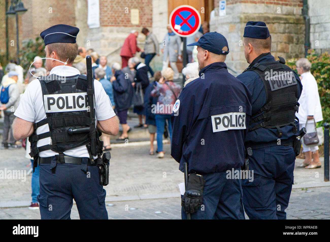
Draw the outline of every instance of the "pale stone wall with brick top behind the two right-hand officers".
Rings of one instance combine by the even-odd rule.
[[[231,1],[227,0],[226,16],[218,16],[215,1],[215,17],[210,20],[210,31],[223,34],[230,53],[226,63],[232,74],[238,75],[248,63],[244,56],[243,34],[248,21],[263,21],[272,35],[272,54],[284,59],[304,56],[305,25],[301,14],[302,0],[279,1]]]

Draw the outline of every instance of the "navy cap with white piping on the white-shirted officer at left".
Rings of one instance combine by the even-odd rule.
[[[41,32],[45,45],[51,43],[76,43],[79,29],[66,24],[57,24]]]

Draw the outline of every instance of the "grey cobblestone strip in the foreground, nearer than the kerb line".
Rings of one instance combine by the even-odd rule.
[[[294,189],[286,209],[287,219],[330,219],[330,189],[311,188],[307,191]],[[107,202],[106,204],[109,204]],[[107,206],[109,219],[181,219],[181,199],[149,199],[111,202]],[[135,208],[135,210],[131,210]],[[248,217],[246,216],[248,219]],[[0,208],[0,219],[40,219],[39,210],[27,207]],[[76,205],[71,210],[71,219],[79,219]]]

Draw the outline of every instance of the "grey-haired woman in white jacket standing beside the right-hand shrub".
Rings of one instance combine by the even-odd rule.
[[[315,131],[315,123],[323,120],[317,83],[310,71],[312,65],[306,58],[299,59],[296,66],[303,85],[303,91],[298,101],[300,104],[299,113],[296,113],[296,116],[299,119],[299,126],[305,127],[307,133],[311,133]],[[303,152],[305,153],[305,161],[299,167],[307,169],[321,167],[318,146],[307,147],[303,143]]]

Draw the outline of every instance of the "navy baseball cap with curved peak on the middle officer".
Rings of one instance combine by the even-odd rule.
[[[228,55],[229,47],[226,38],[217,32],[210,32],[203,35],[197,42],[187,44],[187,46],[198,45],[203,49],[206,49],[215,54]],[[222,50],[223,47],[227,46],[228,51]]]

